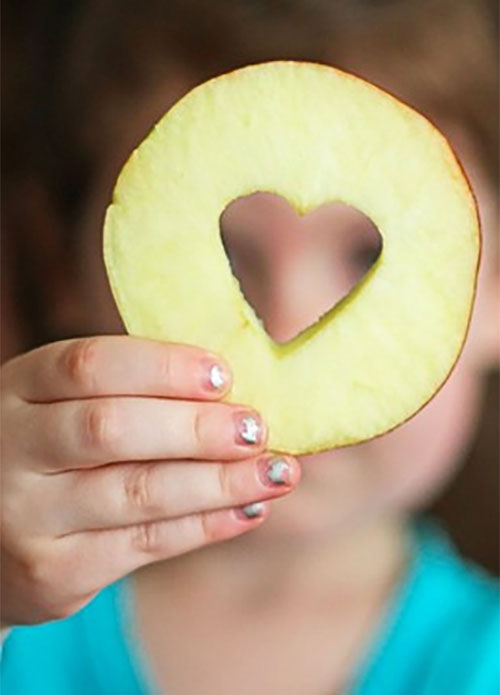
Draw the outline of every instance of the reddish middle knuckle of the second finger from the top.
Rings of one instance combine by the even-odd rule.
[[[116,408],[108,400],[89,403],[83,411],[81,441],[85,449],[114,456],[122,435]]]

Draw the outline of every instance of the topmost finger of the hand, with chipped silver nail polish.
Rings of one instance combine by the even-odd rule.
[[[231,387],[221,357],[193,345],[127,335],[44,345],[7,363],[4,372],[7,386],[38,403],[106,395],[210,400]]]

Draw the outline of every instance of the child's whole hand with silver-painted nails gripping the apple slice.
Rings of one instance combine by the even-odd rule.
[[[259,438],[256,413],[214,402],[230,380],[201,349],[129,336],[4,366],[4,623],[70,615],[141,565],[259,525],[267,504],[235,508],[290,491],[300,470],[280,457],[268,478],[265,425]]]

